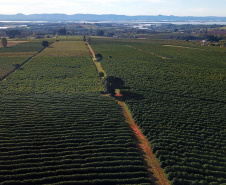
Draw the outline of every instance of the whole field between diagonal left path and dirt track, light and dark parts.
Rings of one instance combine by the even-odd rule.
[[[101,90],[81,41],[53,43],[2,81],[0,184],[151,184],[117,102]]]

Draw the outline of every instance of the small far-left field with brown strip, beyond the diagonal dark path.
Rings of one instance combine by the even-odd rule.
[[[15,41],[16,42],[16,41]],[[16,42],[18,44],[10,47],[0,48],[0,80],[17,65],[21,65],[34,54],[43,49],[41,42]]]

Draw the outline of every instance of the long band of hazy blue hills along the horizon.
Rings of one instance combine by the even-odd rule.
[[[0,21],[226,21],[226,17],[193,17],[193,16],[126,16],[96,14],[16,14],[1,15]]]

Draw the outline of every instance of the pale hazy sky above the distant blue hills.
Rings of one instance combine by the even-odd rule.
[[[226,0],[0,0],[0,14],[224,16]]]

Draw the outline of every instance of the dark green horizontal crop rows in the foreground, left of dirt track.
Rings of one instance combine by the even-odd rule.
[[[150,183],[114,99],[77,93],[1,100],[0,184]]]

